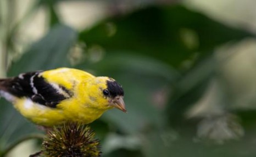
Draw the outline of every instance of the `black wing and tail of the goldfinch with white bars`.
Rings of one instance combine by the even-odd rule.
[[[39,75],[41,72],[27,72],[18,77],[2,79],[0,89],[15,97],[27,97],[33,102],[51,108],[56,108],[59,102],[73,96],[73,93],[65,87],[48,83]]]

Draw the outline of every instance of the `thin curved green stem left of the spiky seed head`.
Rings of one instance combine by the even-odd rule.
[[[1,157],[4,157],[5,155],[7,155],[13,148],[15,148],[17,145],[19,145],[20,143],[27,141],[29,139],[43,139],[44,138],[44,134],[29,134],[21,139],[19,139],[18,141],[16,141],[15,143],[13,143],[12,145],[10,145],[7,149],[3,150],[3,152],[1,153]]]

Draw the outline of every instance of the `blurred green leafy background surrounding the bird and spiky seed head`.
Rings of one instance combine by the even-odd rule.
[[[62,66],[118,80],[103,157],[256,156],[253,0],[0,0],[0,76]],[[0,154],[37,127],[0,99]],[[26,141],[8,156],[40,150]]]

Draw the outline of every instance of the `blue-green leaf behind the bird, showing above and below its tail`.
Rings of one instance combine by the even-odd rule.
[[[76,40],[76,32],[70,27],[58,25],[13,63],[8,75],[15,76],[21,72],[46,70],[69,66],[67,54]],[[1,99],[0,110],[0,150],[7,147],[18,138],[36,131],[31,122],[25,120],[12,104]],[[1,151],[0,151],[1,152]]]

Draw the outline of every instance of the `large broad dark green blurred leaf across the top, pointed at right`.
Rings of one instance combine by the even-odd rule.
[[[232,29],[181,5],[137,10],[104,20],[80,34],[88,47],[97,44],[108,53],[129,51],[157,58],[175,67],[202,58],[219,44],[253,36]]]

